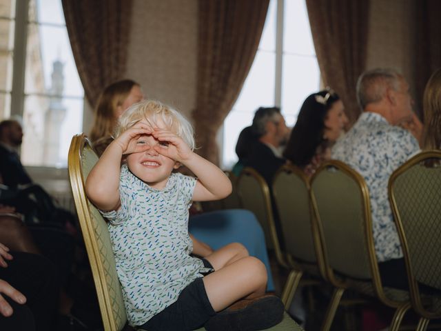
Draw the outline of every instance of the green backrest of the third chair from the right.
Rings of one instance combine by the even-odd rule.
[[[316,263],[309,179],[294,165],[283,165],[273,181],[273,197],[283,229],[285,251],[295,259]]]

